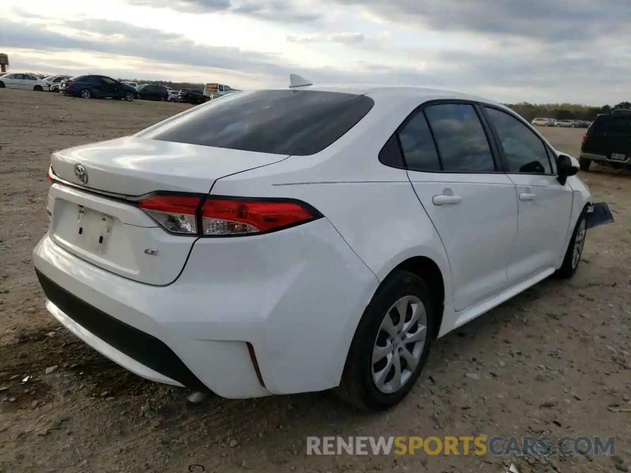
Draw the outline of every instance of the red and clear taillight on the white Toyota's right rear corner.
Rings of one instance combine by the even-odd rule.
[[[191,237],[256,235],[321,218],[312,207],[291,199],[156,194],[139,206],[168,232]]]

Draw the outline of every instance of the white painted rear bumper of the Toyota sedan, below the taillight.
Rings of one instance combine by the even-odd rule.
[[[199,240],[162,287],[93,266],[48,235],[33,260],[49,312],[144,378],[228,398],[334,387],[377,279],[326,219],[277,233]]]

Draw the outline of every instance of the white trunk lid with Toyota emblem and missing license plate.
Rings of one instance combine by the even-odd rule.
[[[216,179],[287,156],[119,138],[53,153],[50,238],[76,257],[139,283],[179,276],[196,237],[172,235],[133,202],[115,197],[158,190],[208,193]],[[75,166],[83,166],[83,184]],[[116,194],[109,196],[107,194]]]

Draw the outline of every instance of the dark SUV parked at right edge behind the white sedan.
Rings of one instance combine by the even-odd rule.
[[[596,117],[583,136],[581,169],[589,170],[592,161],[631,169],[631,110],[613,110]]]

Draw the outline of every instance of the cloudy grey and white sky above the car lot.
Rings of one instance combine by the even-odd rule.
[[[1,0],[11,71],[631,100],[631,0]]]

